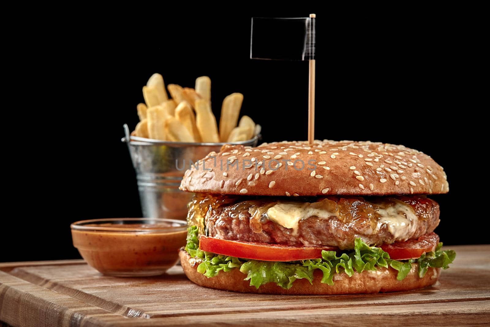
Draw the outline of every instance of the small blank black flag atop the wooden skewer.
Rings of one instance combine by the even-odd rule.
[[[315,18],[252,18],[250,59],[315,59]]]

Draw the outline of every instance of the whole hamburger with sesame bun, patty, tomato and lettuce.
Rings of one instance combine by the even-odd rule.
[[[402,145],[224,145],[187,170],[187,245],[198,285],[265,294],[363,294],[434,284],[454,260],[434,233],[449,191],[430,156]]]

